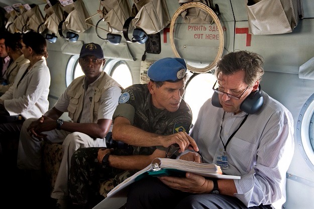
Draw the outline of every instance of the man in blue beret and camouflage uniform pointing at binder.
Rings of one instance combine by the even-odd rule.
[[[113,116],[116,147],[112,143],[107,148],[80,148],[72,156],[69,192],[78,208],[92,208],[154,158],[165,158],[172,144],[181,151],[189,146],[198,151],[188,135],[192,112],[183,100],[186,71],[184,59],[163,58],[149,67],[148,84],[122,91]],[[120,148],[118,142],[128,144],[128,149]],[[107,181],[102,195],[99,179]]]

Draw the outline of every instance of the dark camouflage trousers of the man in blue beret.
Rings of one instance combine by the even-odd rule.
[[[69,174],[69,193],[73,203],[84,205],[87,202],[99,199],[99,188],[102,184],[103,195],[115,186],[132,176],[138,170],[121,170],[116,168],[103,168],[98,162],[99,147],[80,148],[71,158]],[[115,150],[115,155],[129,155],[123,150]]]

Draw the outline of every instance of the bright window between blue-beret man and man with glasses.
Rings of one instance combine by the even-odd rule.
[[[212,87],[215,81],[216,78],[211,73],[195,73],[190,77],[185,88],[184,100],[192,110],[192,124],[195,124],[200,107],[212,97],[214,93]]]

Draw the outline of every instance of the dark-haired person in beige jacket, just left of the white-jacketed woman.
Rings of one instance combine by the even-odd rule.
[[[20,33],[10,35],[10,38],[7,38],[5,41],[6,51],[13,62],[5,72],[5,79],[0,83],[0,95],[4,94],[13,85],[20,67],[30,62],[29,59],[24,57],[21,41],[22,34]]]

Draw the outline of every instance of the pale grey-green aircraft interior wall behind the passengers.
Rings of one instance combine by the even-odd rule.
[[[0,6],[12,5],[12,0],[0,0]],[[24,4],[36,1],[24,1]],[[88,14],[91,16],[99,8],[99,1],[83,0]],[[133,0],[129,0],[133,4]],[[178,9],[174,0],[166,0],[170,18]],[[177,2],[177,1],[176,1]],[[299,78],[299,67],[314,57],[314,4],[313,0],[302,0],[304,18],[299,20],[292,33],[278,35],[251,35],[237,33],[237,29],[248,28],[248,17],[244,0],[213,0],[220,8],[219,19],[224,31],[224,54],[234,50],[248,50],[261,54],[265,59],[265,74],[261,81],[262,90],[280,101],[292,114],[294,119],[295,150],[292,163],[289,167],[287,179],[287,201],[283,205],[286,209],[314,208],[314,169],[308,166],[308,160],[302,155],[302,145],[297,140],[297,127],[300,123],[299,115],[304,103],[314,93],[314,80]],[[42,13],[45,3],[40,5]],[[93,18],[95,23],[98,19]],[[160,54],[146,54],[147,60],[158,60],[163,57],[174,57],[171,49],[169,32],[162,30]],[[124,39],[124,38],[123,38]],[[249,41],[248,41],[249,40]],[[103,44],[103,40],[97,37],[95,28],[91,27],[79,34],[79,41],[84,43],[95,42]],[[123,40],[124,41],[124,40]],[[122,41],[122,42],[123,42]],[[58,36],[56,43],[48,43],[47,65],[51,73],[49,93],[50,107],[66,88],[65,73],[68,60],[72,54],[62,53],[62,46],[68,42]],[[140,82],[141,58],[145,51],[145,44],[121,43],[129,47],[130,53],[136,59],[125,60],[132,69],[134,83]],[[79,49],[77,50],[77,54]],[[191,52],[195,53],[195,52]],[[208,88],[211,88],[209,86]],[[206,89],[204,89],[205,91]],[[291,153],[292,154],[292,153]],[[312,162],[314,164],[314,161]]]

